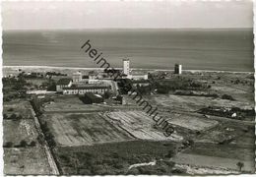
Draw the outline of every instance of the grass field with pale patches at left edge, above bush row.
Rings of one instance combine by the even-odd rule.
[[[20,145],[21,141],[27,143],[37,142],[38,136],[33,119],[3,120],[4,137],[3,144],[12,142],[14,146]]]

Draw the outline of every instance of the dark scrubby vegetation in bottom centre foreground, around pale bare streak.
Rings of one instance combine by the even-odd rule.
[[[58,148],[56,153],[57,161],[66,175],[171,174],[173,162],[169,159],[175,154],[175,150],[172,144],[166,142],[138,141],[82,148]],[[129,170],[133,164],[155,160],[157,164],[154,166]]]

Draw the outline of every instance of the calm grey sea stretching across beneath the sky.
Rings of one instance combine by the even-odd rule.
[[[254,71],[252,29],[4,30],[3,66],[96,68],[88,40],[113,68]]]

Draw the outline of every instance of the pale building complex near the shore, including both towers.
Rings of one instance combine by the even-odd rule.
[[[134,85],[139,86],[148,86],[148,74],[147,75],[136,75],[131,74],[130,70],[130,60],[123,60],[123,70],[122,78],[130,79],[133,81]],[[174,67],[175,74],[182,73],[182,66],[175,64]],[[107,91],[116,92],[118,91],[118,87],[116,82],[107,79],[98,79],[94,75],[83,76],[81,72],[73,73],[72,79],[63,78],[60,79],[56,84],[56,91],[62,92],[63,94],[85,94],[88,92],[96,93],[96,94],[104,94]]]

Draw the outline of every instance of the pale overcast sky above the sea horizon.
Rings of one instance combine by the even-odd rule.
[[[3,29],[252,28],[252,19],[249,0],[2,2]]]

